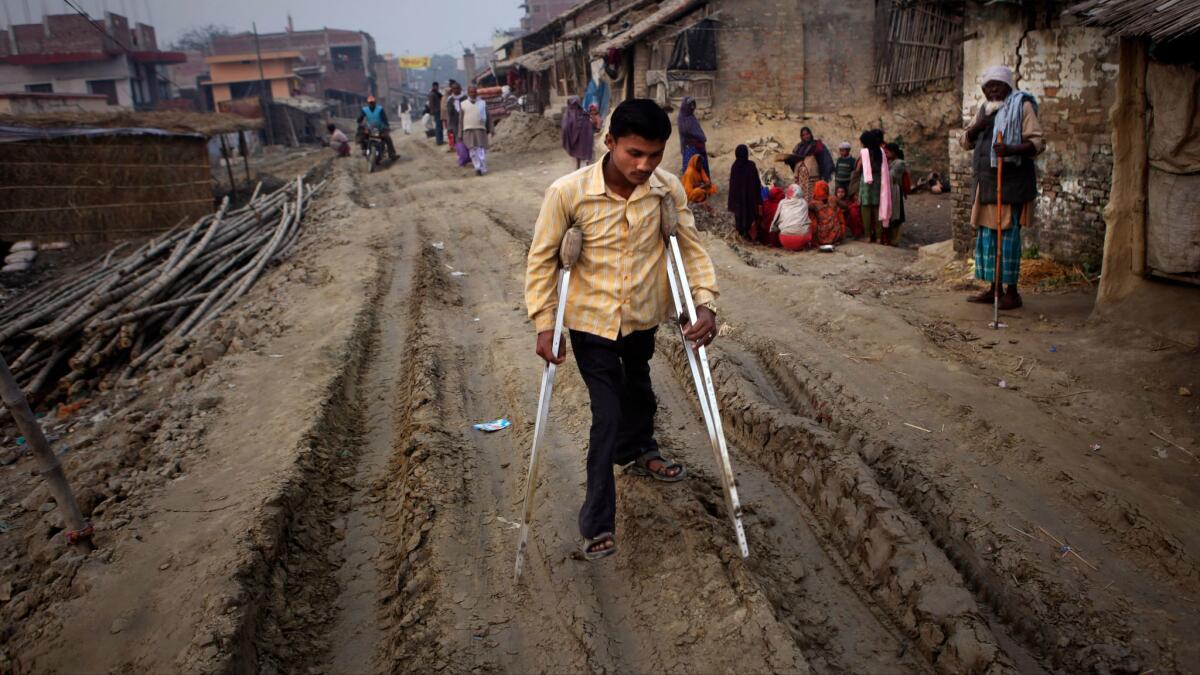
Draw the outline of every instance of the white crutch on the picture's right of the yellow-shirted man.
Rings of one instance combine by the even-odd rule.
[[[688,368],[691,370],[691,378],[696,384],[696,399],[700,400],[700,412],[704,417],[704,428],[708,430],[708,441],[713,446],[713,456],[716,459],[716,466],[721,470],[725,506],[733,521],[733,534],[738,540],[742,557],[750,557],[745,528],[742,526],[742,503],[738,501],[738,486],[733,478],[730,449],[725,443],[725,428],[721,425],[721,412],[716,402],[716,389],[713,386],[713,371],[708,366],[708,352],[704,347],[692,350],[691,345],[688,344],[686,335],[684,335],[683,327],[696,316],[696,305],[691,298],[691,285],[688,282],[683,256],[679,253],[679,240],[676,238],[678,214],[674,199],[670,195],[665,195],[660,202],[660,222],[662,238],[668,247],[667,281],[671,285],[671,298],[674,300],[676,315],[679,317],[679,338],[683,340],[683,351],[688,356]]]

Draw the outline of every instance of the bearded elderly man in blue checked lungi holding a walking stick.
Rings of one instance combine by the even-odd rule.
[[[1033,201],[1038,196],[1038,174],[1033,157],[1045,149],[1038,102],[1032,94],[1016,89],[1013,71],[1004,66],[988,68],[983,74],[986,101],[959,137],[965,150],[972,150],[974,204],[971,225],[976,226],[976,279],[991,282],[986,291],[967,298],[968,303],[990,304],[996,285],[1007,286],[1000,309],[1021,306],[1016,291],[1021,274],[1021,228],[1030,225]],[[1003,133],[1003,142],[998,141]],[[1002,193],[996,195],[996,168],[1004,162]],[[997,217],[996,209],[1000,209]],[[1000,222],[1003,234],[997,235]],[[996,276],[996,244],[1001,240],[1000,277]]]

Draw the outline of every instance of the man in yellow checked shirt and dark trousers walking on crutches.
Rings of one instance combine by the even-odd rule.
[[[668,319],[671,305],[668,253],[660,229],[662,196],[674,199],[679,246],[697,306],[686,338],[696,346],[716,338],[713,262],[701,246],[683,184],[658,168],[670,138],[671,119],[655,102],[622,103],[612,114],[604,159],[546,190],[529,250],[526,303],[538,330],[538,356],[562,364],[565,342],[558,354],[552,353],[558,247],[570,227],[583,231],[564,323],[592,399],[587,495],[580,509],[588,560],[617,550],[613,465],[664,482],[686,474],[660,454],[654,438],[658,402],[649,362],[654,334]]]

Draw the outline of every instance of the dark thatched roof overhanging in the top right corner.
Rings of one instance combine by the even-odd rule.
[[[1200,0],[1085,0],[1068,11],[1127,37],[1169,42],[1200,32]]]

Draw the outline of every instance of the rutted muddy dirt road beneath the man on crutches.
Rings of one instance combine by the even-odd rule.
[[[524,259],[568,162],[498,153],[475,178],[424,141],[398,145],[373,175],[335,162],[324,214],[338,225],[304,258],[332,281],[263,295],[287,309],[262,358],[229,366],[246,393],[208,441],[222,472],[198,461],[162,496],[193,514],[186,500],[220,488],[235,508],[172,516],[162,532],[185,528],[184,544],[156,543],[157,525],[113,544],[104,580],[67,605],[80,619],[65,643],[28,670],[78,667],[62,645],[114,616],[132,627],[101,670],[1200,669],[1200,464],[1186,454],[1200,416],[1177,394],[1200,392],[1195,347],[1088,322],[1086,291],[1030,293],[996,335],[916,252],[857,243],[785,255],[703,235],[751,557],[662,330],[658,432],[690,478],[619,477],[619,554],[577,560],[590,416],[569,360],[515,585],[541,372]],[[280,387],[256,400],[259,377]],[[499,417],[512,426],[472,429]],[[203,565],[158,566],[150,602],[121,592],[163,545]]]

